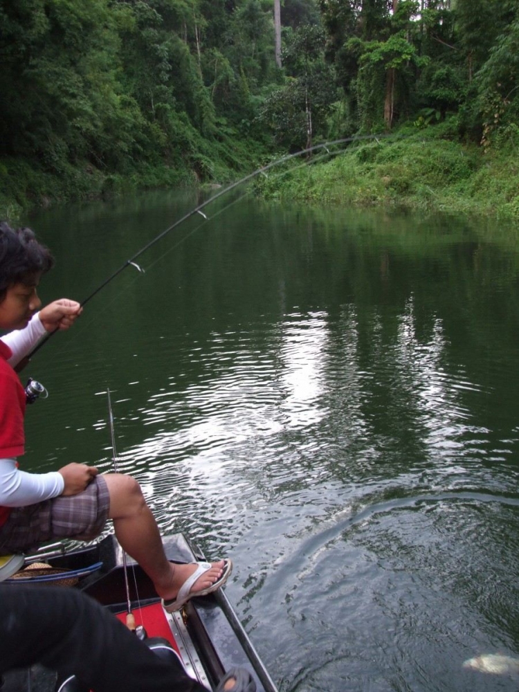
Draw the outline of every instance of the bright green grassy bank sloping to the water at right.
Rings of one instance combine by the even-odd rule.
[[[388,207],[519,219],[519,164],[513,143],[484,152],[420,134],[371,140],[309,165],[294,162],[258,180],[267,199],[361,208]]]

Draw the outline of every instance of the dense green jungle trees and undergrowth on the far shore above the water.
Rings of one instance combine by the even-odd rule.
[[[409,145],[354,154],[361,203],[403,199],[432,157],[426,197],[494,190],[519,215],[517,0],[0,0],[0,40],[3,216],[388,132]]]

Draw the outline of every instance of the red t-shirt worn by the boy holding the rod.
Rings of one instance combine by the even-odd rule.
[[[25,392],[18,375],[7,363],[11,356],[11,349],[0,339],[0,459],[18,457],[25,452]],[[5,524],[10,509],[0,507],[0,526]]]

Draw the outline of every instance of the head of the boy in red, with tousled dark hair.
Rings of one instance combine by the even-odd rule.
[[[23,329],[41,305],[37,285],[54,260],[30,228],[0,221],[0,329]]]

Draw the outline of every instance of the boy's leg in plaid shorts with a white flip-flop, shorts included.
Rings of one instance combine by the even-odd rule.
[[[226,583],[233,567],[228,559],[180,565],[168,561],[140,485],[133,477],[118,473],[94,475],[86,489],[75,495],[13,507],[0,527],[0,554],[28,552],[48,540],[93,540],[102,533],[107,519],[113,520],[122,549],[143,567],[167,610],[179,610],[191,597]]]

